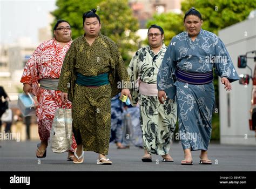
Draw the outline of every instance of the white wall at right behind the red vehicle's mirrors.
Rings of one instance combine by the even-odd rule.
[[[248,68],[237,67],[239,55],[245,55],[247,51],[256,50],[256,18],[249,19],[238,24],[229,26],[219,31],[219,37],[223,40],[238,75],[251,71]],[[253,57],[250,54],[248,56]],[[247,65],[254,71],[253,59],[247,59]],[[230,93],[230,127],[227,120],[227,93]],[[226,92],[224,85],[219,79],[219,113],[220,113],[220,143],[256,145],[255,131],[249,129],[248,119],[250,118],[252,80],[245,87],[239,82],[232,83],[232,91]],[[247,136],[247,139],[245,138]]]

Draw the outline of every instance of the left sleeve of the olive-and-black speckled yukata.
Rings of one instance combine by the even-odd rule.
[[[74,67],[76,62],[76,46],[75,43],[71,43],[68,52],[66,52],[62,70],[59,76],[58,89],[62,92],[68,93],[68,97],[73,95],[73,77]]]

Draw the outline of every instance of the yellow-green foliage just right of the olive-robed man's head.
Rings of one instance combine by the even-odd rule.
[[[110,37],[118,46],[125,64],[129,64],[129,52],[138,48],[138,37],[135,32],[139,23],[132,16],[132,10],[127,0],[109,0],[100,3],[100,19],[102,20],[102,34]]]

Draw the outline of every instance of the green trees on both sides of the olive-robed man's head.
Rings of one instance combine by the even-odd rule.
[[[56,20],[65,19],[70,22],[72,39],[84,34],[83,13],[96,9],[102,24],[102,34],[116,42],[125,63],[130,62],[129,52],[137,49],[138,37],[135,32],[139,29],[139,24],[132,16],[128,0],[57,0],[56,5],[58,8],[52,15]]]

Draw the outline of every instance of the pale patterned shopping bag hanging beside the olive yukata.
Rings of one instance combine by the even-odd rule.
[[[58,108],[50,132],[52,152],[63,153],[70,150],[72,134],[72,109]]]

